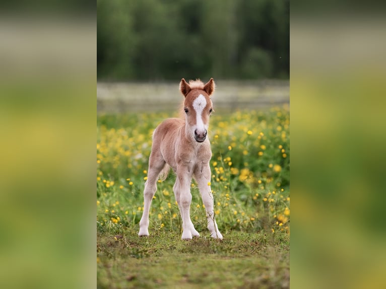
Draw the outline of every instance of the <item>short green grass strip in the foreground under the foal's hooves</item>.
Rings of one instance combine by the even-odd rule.
[[[100,288],[289,287],[289,238],[231,232],[218,242],[178,234],[99,234]]]

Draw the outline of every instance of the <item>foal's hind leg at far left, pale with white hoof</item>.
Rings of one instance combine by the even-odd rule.
[[[138,233],[139,236],[149,236],[148,228],[150,205],[152,203],[153,196],[157,190],[158,175],[164,165],[165,161],[160,153],[154,154],[152,152],[150,154],[148,179],[145,183],[144,189],[144,211],[140,221],[140,232]]]

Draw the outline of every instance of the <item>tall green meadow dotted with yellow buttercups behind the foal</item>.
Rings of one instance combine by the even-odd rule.
[[[107,115],[97,126],[97,226],[100,232],[138,229],[152,133],[166,113]],[[170,116],[170,115],[169,115]],[[211,117],[211,187],[220,231],[289,234],[289,111],[235,112]],[[150,234],[180,235],[175,176],[158,182]],[[205,208],[191,184],[191,218],[208,234]]]

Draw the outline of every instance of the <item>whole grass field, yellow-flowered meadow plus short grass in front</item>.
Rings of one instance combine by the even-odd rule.
[[[289,109],[211,117],[211,187],[222,242],[211,239],[197,185],[181,241],[174,175],[158,183],[150,237],[137,236],[151,135],[174,113],[97,118],[97,279],[100,288],[289,287]]]

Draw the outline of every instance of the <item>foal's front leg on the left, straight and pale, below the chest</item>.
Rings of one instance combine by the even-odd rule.
[[[190,220],[190,203],[191,203],[191,193],[190,193],[190,180],[191,180],[191,173],[188,166],[178,166],[177,168],[177,181],[179,183],[179,202],[178,206],[180,207],[181,211],[181,217],[182,217],[182,240],[190,240],[193,236],[200,236],[199,233],[195,230],[195,227],[193,226],[193,223],[191,223]],[[178,187],[175,186],[175,188]],[[177,189],[178,190],[178,189]]]

